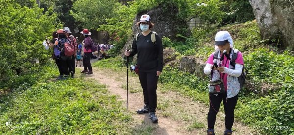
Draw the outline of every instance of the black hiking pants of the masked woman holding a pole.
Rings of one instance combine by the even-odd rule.
[[[139,80],[143,89],[144,104],[150,106],[150,112],[155,112],[157,108],[157,81],[156,69],[145,72],[139,69]]]

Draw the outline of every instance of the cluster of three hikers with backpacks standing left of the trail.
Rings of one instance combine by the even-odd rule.
[[[59,29],[52,33],[52,40],[50,42],[46,39],[49,47],[53,48],[52,58],[55,60],[59,70],[57,80],[67,79],[70,75],[74,78],[75,67],[78,64],[81,67],[81,60],[83,61],[84,67],[81,73],[93,74],[90,59],[92,52],[95,52],[97,47],[90,38],[91,32],[88,29],[80,32],[84,35],[85,39],[79,44],[77,44],[78,38],[75,38],[71,33],[68,27],[64,27],[64,29]],[[84,49],[82,50],[82,48]]]

